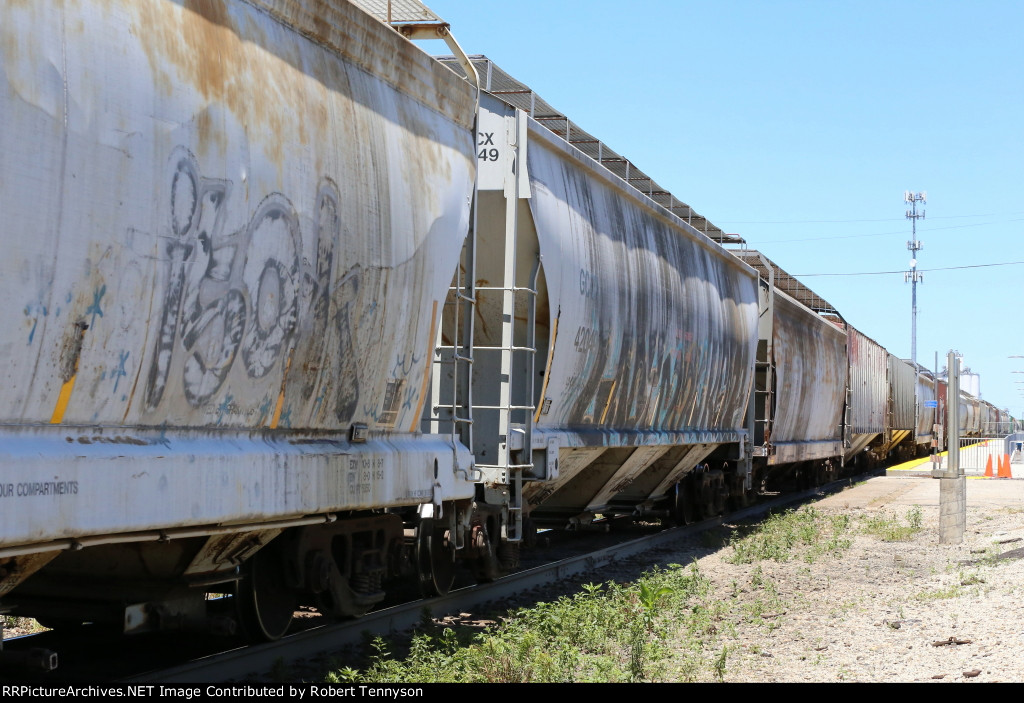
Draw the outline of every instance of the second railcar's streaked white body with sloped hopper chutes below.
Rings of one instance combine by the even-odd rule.
[[[539,243],[541,324],[557,325],[531,434],[559,447],[558,476],[524,490],[528,512],[555,524],[638,514],[749,441],[757,277],[543,126],[527,144],[522,229]]]

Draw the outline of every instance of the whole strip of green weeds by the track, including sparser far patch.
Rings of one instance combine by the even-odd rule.
[[[717,541],[719,530],[707,537]],[[359,668],[327,680],[351,683],[630,683],[725,680],[746,654],[737,628],[779,626],[788,610],[758,562],[813,563],[840,556],[852,524],[803,508],[736,531],[723,555],[754,564],[716,589],[697,565],[655,568],[632,583],[588,584],[582,592],[510,611],[485,630],[427,620],[403,644],[376,639]],[[810,571],[807,571],[808,576]]]

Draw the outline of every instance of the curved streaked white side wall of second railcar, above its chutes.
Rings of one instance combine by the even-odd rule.
[[[566,444],[736,441],[757,345],[753,270],[545,132],[531,125],[530,208],[558,332],[540,432],[567,431]]]

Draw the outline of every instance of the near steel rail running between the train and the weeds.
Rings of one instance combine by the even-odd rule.
[[[862,477],[846,478],[821,487],[786,493],[719,518],[662,530],[586,555],[520,571],[494,583],[478,584],[454,590],[447,596],[392,606],[365,615],[357,620],[321,625],[290,634],[276,642],[219,652],[185,664],[130,675],[122,678],[122,682],[130,684],[216,684],[258,678],[274,667],[291,666],[295,662],[358,645],[365,641],[365,633],[368,631],[384,634],[410,629],[422,622],[424,609],[428,609],[435,617],[472,611],[478,609],[482,604],[509,599],[529,588],[597,571],[613,561],[642,554],[662,544],[692,537],[724,523],[756,519],[794,503],[837,492],[851,485],[857,478]],[[600,580],[600,576],[597,578]]]

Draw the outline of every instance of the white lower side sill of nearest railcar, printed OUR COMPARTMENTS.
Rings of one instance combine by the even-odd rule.
[[[0,550],[469,497],[452,471],[434,480],[434,463],[451,467],[456,450],[464,469],[471,463],[446,438],[394,435],[352,445],[197,431],[161,440],[157,432],[4,437]]]

